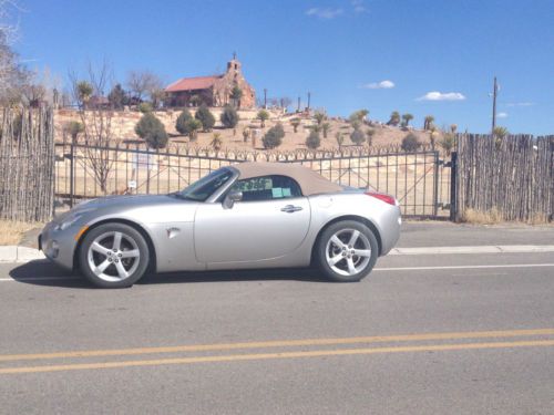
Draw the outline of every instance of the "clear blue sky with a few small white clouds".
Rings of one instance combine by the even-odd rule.
[[[222,71],[236,51],[258,93],[483,133],[496,75],[497,123],[554,134],[552,0],[19,2],[16,49],[62,77],[105,58],[117,80],[144,69],[170,83]]]

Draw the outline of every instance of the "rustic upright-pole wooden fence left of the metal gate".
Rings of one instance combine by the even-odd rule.
[[[0,122],[0,218],[49,220],[54,200],[52,110],[4,108]]]

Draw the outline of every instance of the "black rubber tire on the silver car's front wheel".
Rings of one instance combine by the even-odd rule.
[[[91,250],[91,246],[95,240],[99,243],[102,242],[110,246],[111,234],[113,234],[112,247],[115,242],[115,235],[121,234],[119,250],[114,251],[113,249],[106,249],[106,255],[96,252],[94,249]],[[99,241],[98,238],[103,239],[100,239]],[[100,247],[105,249],[106,247],[102,243]],[[134,255],[136,251],[138,251],[138,257],[121,258],[127,253]],[[101,271],[102,273],[100,276],[96,274],[91,268],[89,255],[92,256],[93,263],[99,266],[95,268],[96,270],[103,266],[104,259],[105,261],[110,261],[107,268]],[[89,281],[100,288],[126,288],[133,286],[143,277],[148,267],[148,245],[144,240],[141,232],[129,225],[116,222],[104,224],[86,232],[79,251],[79,267],[82,273]],[[116,264],[115,262],[119,263]],[[124,271],[129,271],[129,277],[121,277],[121,268],[117,268],[116,266],[121,266]],[[126,269],[126,267],[129,267],[129,269]]]

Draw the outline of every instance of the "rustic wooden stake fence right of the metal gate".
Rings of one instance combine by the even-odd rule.
[[[460,135],[456,162],[456,220],[470,209],[501,220],[553,220],[554,136]]]

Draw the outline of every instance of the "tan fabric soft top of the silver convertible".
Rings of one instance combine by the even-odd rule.
[[[271,175],[294,178],[300,185],[304,196],[342,191],[342,186],[299,164],[247,162],[235,164],[233,167],[240,173],[240,179]]]

